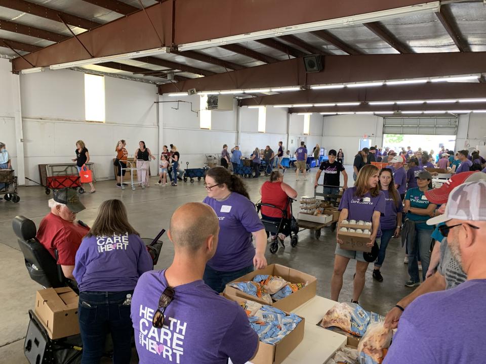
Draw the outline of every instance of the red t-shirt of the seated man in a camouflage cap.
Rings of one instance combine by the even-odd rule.
[[[37,240],[49,250],[54,259],[54,250],[57,249],[58,264],[74,265],[77,249],[89,231],[89,228],[73,224],[50,212],[39,225]]]

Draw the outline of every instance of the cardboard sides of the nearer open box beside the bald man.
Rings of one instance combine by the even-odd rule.
[[[235,302],[246,301],[231,294],[224,294],[226,299]],[[281,308],[280,308],[281,309]],[[287,315],[289,311],[282,309]],[[280,364],[304,339],[305,319],[299,316],[302,321],[296,326],[289,335],[281,339],[275,345],[266,344],[260,341],[258,351],[251,362],[253,364]]]

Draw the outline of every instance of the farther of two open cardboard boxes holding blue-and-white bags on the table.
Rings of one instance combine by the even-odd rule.
[[[290,283],[306,283],[306,286],[304,288],[292,293],[286,298],[282,298],[281,300],[273,302],[270,305],[279,308],[282,311],[290,312],[295,308],[299,307],[301,304],[304,304],[305,302],[313,298],[316,294],[317,280],[314,276],[310,276],[299,270],[292,269],[280,264],[267,265],[267,267],[264,269],[255,270],[243,277],[235,279],[230,283],[253,281],[253,279],[258,275],[279,276]],[[258,297],[246,294],[245,292],[230,287],[229,285],[226,285],[224,289],[224,294],[249,299],[251,301],[259,302],[261,304],[268,304]]]

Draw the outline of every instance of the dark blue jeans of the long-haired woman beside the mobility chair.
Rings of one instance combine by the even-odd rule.
[[[133,327],[130,305],[123,305],[123,292],[81,292],[79,294],[79,330],[83,339],[81,364],[98,364],[105,348],[107,333],[113,339],[113,363],[129,364],[132,355]]]

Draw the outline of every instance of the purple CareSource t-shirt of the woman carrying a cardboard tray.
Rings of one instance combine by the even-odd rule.
[[[364,196],[355,196],[356,187],[346,189],[339,204],[339,211],[348,209],[348,220],[372,221],[373,212],[379,211],[385,214],[385,194],[380,191],[378,196],[372,197],[368,192]],[[377,238],[381,237],[380,226],[378,226]]]

